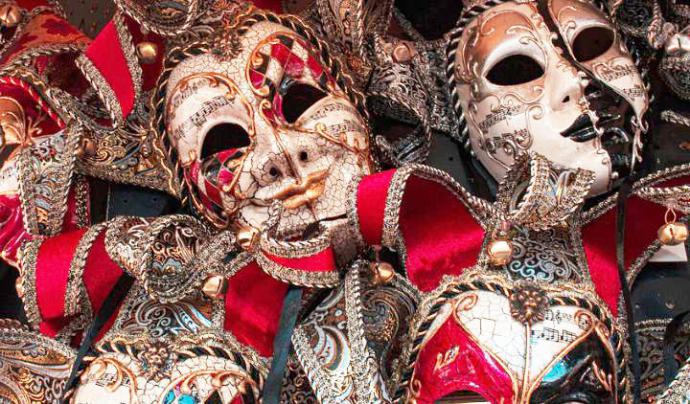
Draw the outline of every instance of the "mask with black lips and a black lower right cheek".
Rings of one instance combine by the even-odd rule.
[[[542,7],[543,6],[543,7]],[[467,140],[500,180],[533,151],[605,192],[639,160],[648,97],[614,26],[583,0],[506,2],[460,19],[448,69]]]

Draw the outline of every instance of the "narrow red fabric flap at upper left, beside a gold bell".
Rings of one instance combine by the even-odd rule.
[[[113,89],[124,119],[134,107],[135,90],[114,22],[103,28],[84,54]]]

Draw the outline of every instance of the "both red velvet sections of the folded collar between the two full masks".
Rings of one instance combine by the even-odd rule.
[[[364,177],[357,189],[357,215],[365,242],[381,244],[385,205],[394,171]],[[398,219],[405,243],[407,276],[420,290],[438,286],[446,274],[474,265],[484,230],[457,196],[433,180],[410,176]]]

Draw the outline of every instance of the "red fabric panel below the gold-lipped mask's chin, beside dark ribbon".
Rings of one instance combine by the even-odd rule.
[[[262,356],[271,356],[287,289],[252,261],[228,280],[225,329]]]

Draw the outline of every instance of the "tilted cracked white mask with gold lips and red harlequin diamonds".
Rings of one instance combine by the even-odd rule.
[[[167,132],[197,207],[260,229],[282,201],[278,232],[345,213],[348,183],[370,170],[367,125],[311,45],[260,22],[233,57],[180,63],[167,87]]]

